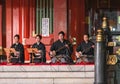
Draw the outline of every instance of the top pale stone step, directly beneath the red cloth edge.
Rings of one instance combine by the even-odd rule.
[[[93,72],[94,65],[3,65],[0,72]]]

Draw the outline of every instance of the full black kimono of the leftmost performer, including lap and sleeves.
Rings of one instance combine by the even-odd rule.
[[[19,55],[19,58],[16,59],[16,58],[14,58],[15,57],[14,53],[11,54],[11,56],[13,56],[13,58],[11,58],[10,62],[12,62],[12,63],[24,63],[25,58],[24,58],[23,45],[21,43],[15,43],[11,46],[11,48],[14,48],[17,52],[20,53],[20,55]]]

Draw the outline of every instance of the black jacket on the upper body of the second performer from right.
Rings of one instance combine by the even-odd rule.
[[[68,44],[69,48],[65,47],[65,45]],[[60,40],[57,40],[54,42],[50,48],[51,51],[56,51],[57,55],[66,55],[71,57],[71,54],[73,52],[73,47],[71,43],[68,40],[64,40],[61,42]]]

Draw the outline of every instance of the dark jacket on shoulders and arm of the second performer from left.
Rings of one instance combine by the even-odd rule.
[[[43,52],[43,57],[41,58],[42,62],[46,62],[46,48],[45,48],[45,45],[40,42],[39,44],[37,43],[34,43],[32,45],[32,48],[37,48],[38,50],[41,50]]]

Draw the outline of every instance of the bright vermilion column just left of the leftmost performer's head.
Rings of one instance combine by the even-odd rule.
[[[10,47],[12,44],[12,0],[6,0],[6,47]]]

